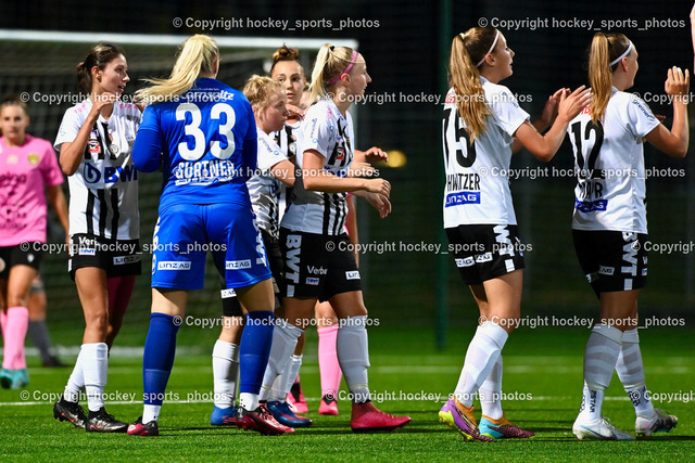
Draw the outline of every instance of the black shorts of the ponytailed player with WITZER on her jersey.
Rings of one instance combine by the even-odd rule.
[[[517,226],[458,226],[446,229],[464,283],[482,282],[523,268],[523,246]]]

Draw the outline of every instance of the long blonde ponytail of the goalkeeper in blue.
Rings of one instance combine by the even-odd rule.
[[[210,36],[191,36],[181,44],[169,78],[144,79],[152,87],[138,90],[136,97],[146,104],[151,100],[179,97],[193,87],[201,73],[214,73],[218,60],[219,50]]]

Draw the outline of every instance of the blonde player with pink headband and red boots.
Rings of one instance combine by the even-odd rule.
[[[315,103],[302,121],[301,166],[293,200],[285,213],[280,244],[285,255],[283,323],[276,326],[264,389],[283,371],[296,339],[308,325],[317,300],[328,300],[338,314],[338,358],[353,397],[354,432],[393,430],[408,416],[393,416],[375,408],[369,396],[367,368],[367,309],[359,272],[344,233],[345,195],[355,192],[375,206],[381,218],[391,211],[391,185],[383,179],[348,177],[354,136],[348,110],[371,81],[359,53],[325,44],[312,73]],[[287,323],[285,323],[287,321]]]

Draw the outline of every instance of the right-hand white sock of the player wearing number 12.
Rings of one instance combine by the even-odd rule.
[[[616,363],[618,377],[632,400],[637,416],[652,417],[656,413],[649,400],[649,393],[644,383],[644,365],[640,351],[640,335],[637,329],[628,330],[622,334],[620,355]]]

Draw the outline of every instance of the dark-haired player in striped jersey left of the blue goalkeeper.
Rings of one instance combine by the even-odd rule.
[[[131,147],[141,112],[118,98],[130,78],[123,50],[94,46],[77,66],[84,102],[65,112],[54,146],[70,184],[68,271],[85,313],[85,335],[53,415],[88,432],[125,433],[104,409],[109,349],[140,274],[138,173]],[[87,391],[89,416],[77,404]]]

